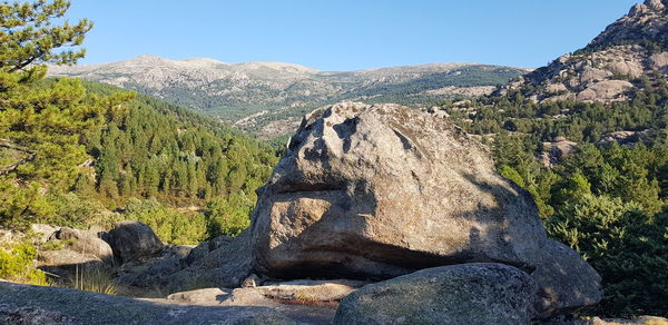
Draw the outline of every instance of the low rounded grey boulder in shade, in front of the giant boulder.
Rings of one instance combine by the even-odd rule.
[[[531,324],[536,289],[507,265],[428,268],[354,292],[334,324]]]

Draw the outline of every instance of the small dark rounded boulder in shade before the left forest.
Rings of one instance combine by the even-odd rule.
[[[107,234],[114,255],[122,263],[160,252],[164,245],[153,229],[139,221],[120,221]]]

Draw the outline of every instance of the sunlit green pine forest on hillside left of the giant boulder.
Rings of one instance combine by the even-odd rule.
[[[100,98],[114,99],[114,102],[107,105],[109,111],[104,114],[102,122],[90,125],[70,139],[77,157],[68,161],[69,173],[49,179],[49,183],[62,186],[43,188],[43,195],[28,201],[13,200],[16,206],[6,206],[0,213],[3,225],[21,227],[32,221],[84,227],[91,223],[108,225],[121,218],[120,215],[102,214],[110,210],[127,213],[122,217],[134,217],[155,226],[168,224],[174,229],[179,228],[174,224],[184,223],[180,218],[191,220],[200,230],[181,230],[183,234],[169,233],[163,237],[171,238],[164,239],[167,242],[193,244],[227,232],[225,228],[203,234],[206,229],[204,215],[193,211],[209,200],[230,205],[226,216],[207,214],[212,221],[226,223],[223,219],[236,218],[240,225],[247,225],[247,220],[239,220],[237,215],[242,213],[247,219],[256,199],[255,188],[266,180],[277,159],[269,146],[187,109],[112,86],[46,79],[35,82],[30,89],[45,91],[60,89],[63,85],[71,88],[69,91],[77,92],[81,105],[100,101]],[[3,138],[33,148],[20,139],[36,136],[32,134],[22,131]],[[38,158],[43,156],[38,155]],[[39,166],[40,173],[33,171],[33,175],[20,174],[38,168],[35,166],[38,161],[21,165],[16,170],[18,175],[9,173],[4,186],[8,187],[9,179],[17,176],[36,181],[43,179],[40,173],[52,171],[48,165]],[[137,199],[147,203],[138,205]],[[126,208],[128,200],[135,203],[132,209]],[[140,207],[145,211],[140,211]],[[28,210],[31,213],[26,214]],[[235,230],[238,225],[230,227],[229,232],[238,233]]]

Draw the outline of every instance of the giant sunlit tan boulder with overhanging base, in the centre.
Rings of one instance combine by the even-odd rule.
[[[557,297],[541,313],[600,299],[600,278],[577,254],[551,263],[546,252],[563,247],[547,239],[531,197],[495,173],[485,147],[406,107],[312,112],[257,193],[247,235],[259,274],[390,278],[495,262],[537,274]]]

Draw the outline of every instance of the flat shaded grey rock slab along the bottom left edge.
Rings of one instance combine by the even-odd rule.
[[[297,324],[259,306],[184,306],[0,282],[2,324]]]

